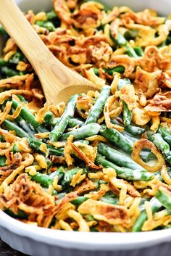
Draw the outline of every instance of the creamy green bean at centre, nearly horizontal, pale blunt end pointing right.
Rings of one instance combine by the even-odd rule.
[[[99,133],[100,128],[101,126],[97,123],[88,123],[88,125],[83,125],[82,127],[75,129],[74,131],[64,133],[60,138],[60,140],[64,141],[70,135],[73,135],[74,139],[86,139],[90,136],[93,136]]]

